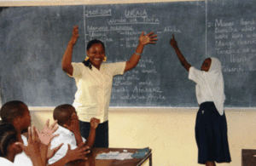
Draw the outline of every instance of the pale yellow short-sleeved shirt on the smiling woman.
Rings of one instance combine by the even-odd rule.
[[[101,123],[108,120],[113,76],[123,74],[125,65],[125,62],[103,63],[100,70],[95,66],[90,70],[83,63],[72,63],[72,77],[78,88],[73,106],[79,120],[90,122],[92,117],[100,119]]]

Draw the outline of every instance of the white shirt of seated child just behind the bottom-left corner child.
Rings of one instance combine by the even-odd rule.
[[[21,139],[23,144],[27,146],[26,136],[21,135]],[[26,156],[26,153],[23,151],[15,156],[15,166],[33,166],[33,164],[31,158]]]

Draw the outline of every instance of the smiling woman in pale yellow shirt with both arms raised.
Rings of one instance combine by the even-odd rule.
[[[81,135],[84,138],[88,137],[90,118],[96,117],[101,123],[96,129],[94,147],[108,147],[108,106],[113,76],[123,74],[137,66],[144,46],[148,43],[155,43],[157,35],[153,35],[153,31],[147,35],[142,32],[136,51],[126,62],[102,64],[107,60],[105,47],[101,41],[95,39],[87,45],[85,60],[72,63],[73,46],[79,38],[78,28],[78,26],[73,27],[73,36],[62,58],[62,70],[76,81],[78,90],[73,106],[78,112]]]

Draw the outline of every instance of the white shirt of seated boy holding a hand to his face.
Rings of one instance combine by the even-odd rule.
[[[57,134],[60,134],[60,135],[56,136],[53,140],[51,140],[50,148],[53,149],[57,146],[60,146],[61,143],[63,143],[64,145],[61,146],[61,149],[59,149],[59,151],[55,153],[54,157],[49,158],[49,161],[48,161],[49,164],[57,162],[58,160],[60,160],[62,157],[66,155],[67,149],[68,149],[67,144],[70,145],[71,150],[77,147],[76,138],[73,135],[73,132],[71,132],[70,130],[59,126],[59,128],[55,131],[54,135],[57,135]],[[82,139],[83,139],[83,142],[85,142],[85,139],[83,137]]]

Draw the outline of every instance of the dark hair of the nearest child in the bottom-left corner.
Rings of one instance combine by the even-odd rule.
[[[0,122],[0,157],[7,157],[8,147],[18,140],[18,132],[13,124]]]

